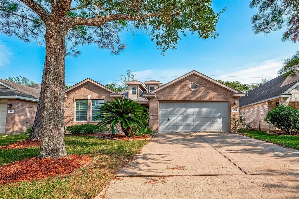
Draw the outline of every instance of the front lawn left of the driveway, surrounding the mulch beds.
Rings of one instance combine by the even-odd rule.
[[[0,146],[27,138],[28,135],[0,136]],[[93,157],[93,164],[83,167],[64,178],[53,177],[38,181],[0,185],[0,198],[94,198],[147,141],[114,141],[88,136],[66,136],[69,154]],[[0,149],[0,165],[31,158],[39,147]],[[1,169],[1,168],[0,168]]]

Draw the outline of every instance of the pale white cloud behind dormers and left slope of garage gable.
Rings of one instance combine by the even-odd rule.
[[[147,80],[154,79],[165,84],[171,80],[178,78],[181,75],[184,75],[187,72],[190,72],[191,70],[190,69],[150,69],[150,70],[136,71],[133,73],[136,75],[135,79],[139,81],[147,81]]]

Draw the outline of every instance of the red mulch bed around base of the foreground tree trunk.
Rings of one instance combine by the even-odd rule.
[[[87,155],[70,155],[58,159],[34,157],[15,161],[0,167],[0,184],[63,176],[91,161]]]

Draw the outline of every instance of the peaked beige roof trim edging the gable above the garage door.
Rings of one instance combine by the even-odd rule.
[[[216,84],[219,87],[222,87],[222,88],[224,88],[226,90],[229,90],[231,92],[241,93],[241,92],[239,92],[239,91],[237,91],[237,90],[235,90],[235,89],[233,89],[233,88],[231,88],[229,86],[226,86],[225,84],[220,83],[219,81],[216,81],[216,80],[214,80],[214,79],[212,79],[212,78],[210,78],[210,77],[208,77],[208,76],[206,76],[206,75],[204,75],[204,74],[202,74],[200,72],[197,72],[196,70],[192,70],[192,71],[186,73],[185,75],[182,75],[181,77],[176,78],[175,80],[168,82],[167,84],[163,84],[161,87],[158,87],[157,89],[153,90],[152,92],[147,93],[147,95],[149,96],[150,94],[155,94],[159,90],[162,90],[162,89],[164,89],[164,88],[166,88],[166,87],[168,87],[168,86],[170,86],[170,85],[172,85],[172,84],[174,84],[174,83],[176,83],[176,82],[178,82],[178,81],[180,81],[180,80],[182,80],[182,79],[184,79],[184,78],[186,78],[186,77],[188,77],[190,75],[193,75],[193,74],[198,75],[199,77],[201,77],[201,78],[203,78],[203,79],[205,79],[205,80],[207,80],[207,81],[209,81],[209,82],[211,82],[213,84]]]

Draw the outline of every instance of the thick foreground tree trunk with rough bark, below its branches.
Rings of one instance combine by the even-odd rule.
[[[46,27],[46,58],[35,129],[41,134],[39,158],[68,156],[64,144],[65,34],[63,22]]]

